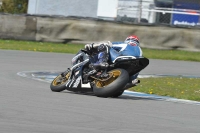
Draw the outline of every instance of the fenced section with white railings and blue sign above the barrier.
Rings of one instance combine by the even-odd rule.
[[[199,0],[119,0],[117,21],[200,26]]]

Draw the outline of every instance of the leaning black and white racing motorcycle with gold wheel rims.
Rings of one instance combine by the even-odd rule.
[[[91,54],[84,49],[80,50],[72,58],[71,68],[60,73],[51,82],[51,90],[92,92],[98,97],[119,97],[125,91],[129,77],[149,64],[149,59],[145,57],[119,56],[108,63],[109,67],[95,72],[89,67],[92,60]]]

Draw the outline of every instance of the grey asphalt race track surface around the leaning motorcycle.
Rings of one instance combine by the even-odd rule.
[[[0,133],[199,133],[200,106],[122,96],[99,98],[18,76],[64,71],[73,54],[0,50]],[[150,59],[141,74],[200,76],[200,63]]]

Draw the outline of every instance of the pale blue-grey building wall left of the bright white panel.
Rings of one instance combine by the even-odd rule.
[[[28,14],[97,18],[97,0],[29,0]]]

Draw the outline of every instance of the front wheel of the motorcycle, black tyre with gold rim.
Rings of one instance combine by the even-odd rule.
[[[50,85],[50,88],[54,92],[61,92],[66,89],[66,83],[70,77],[70,72],[58,75]]]

